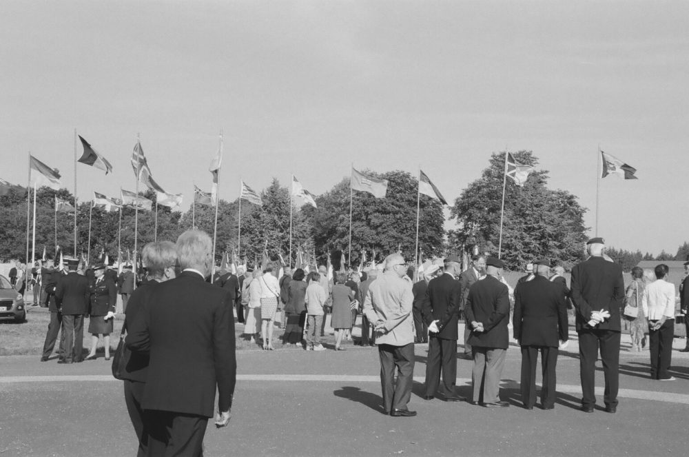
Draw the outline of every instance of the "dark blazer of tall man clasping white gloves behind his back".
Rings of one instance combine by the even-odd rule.
[[[619,309],[624,300],[624,279],[619,265],[602,257],[590,257],[572,269],[571,286],[572,301],[577,309],[577,332],[590,329],[587,323],[591,312],[601,309],[610,312],[610,318],[595,328],[621,330]]]

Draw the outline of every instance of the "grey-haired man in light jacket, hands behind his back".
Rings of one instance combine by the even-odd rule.
[[[378,332],[380,383],[384,414],[416,416],[407,404],[414,375],[414,334],[411,283],[404,281],[407,263],[402,254],[385,258],[385,270],[369,285],[364,298],[364,314]],[[398,369],[395,383],[395,367]]]

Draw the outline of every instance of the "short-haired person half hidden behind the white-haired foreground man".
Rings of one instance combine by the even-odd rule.
[[[144,281],[141,287],[132,292],[127,309],[125,310],[125,323],[122,328],[126,332],[127,325],[134,321],[147,300],[150,299],[151,292],[155,290],[155,285],[173,279],[176,276],[175,264],[177,262],[177,252],[174,243],[169,241],[159,241],[158,243],[148,243],[143,247],[141,260],[148,270],[148,281]],[[148,454],[148,433],[143,416],[141,400],[143,399],[143,389],[146,387],[146,375],[148,371],[148,356],[138,352],[130,352],[127,360],[124,378],[125,404],[129,412],[136,438],[138,438],[137,457]]]

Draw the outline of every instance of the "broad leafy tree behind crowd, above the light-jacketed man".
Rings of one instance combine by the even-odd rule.
[[[402,171],[367,172],[389,181],[387,196],[376,199],[366,192],[352,194],[350,265],[358,265],[362,250],[371,259],[373,250],[381,261],[385,255],[402,250],[409,261],[415,259],[416,203],[418,180]],[[318,208],[305,208],[313,225],[316,249],[325,254],[332,250],[349,251],[349,180],[344,179],[316,199]],[[442,205],[421,195],[419,248],[426,256],[441,255],[444,238]],[[321,257],[321,261],[325,257]],[[337,262],[333,258],[333,262]]]

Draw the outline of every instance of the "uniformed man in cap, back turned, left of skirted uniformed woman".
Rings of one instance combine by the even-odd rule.
[[[58,363],[81,362],[84,315],[88,312],[89,283],[85,276],[76,272],[79,259],[65,259],[67,276],[63,276],[55,288],[55,302],[62,312],[62,336],[65,340],[63,360]]]

